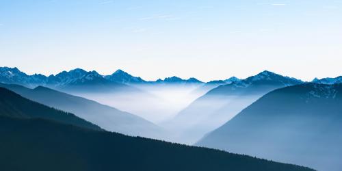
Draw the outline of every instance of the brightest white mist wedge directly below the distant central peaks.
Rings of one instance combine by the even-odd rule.
[[[135,85],[135,87],[142,91],[70,93],[116,107],[157,124],[174,117],[200,96],[190,93],[196,86]]]

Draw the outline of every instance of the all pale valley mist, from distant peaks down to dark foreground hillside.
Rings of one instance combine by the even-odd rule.
[[[261,95],[204,96],[202,85],[134,85],[141,91],[69,92],[140,116],[159,126],[169,142],[192,145]],[[148,135],[148,134],[144,134]],[[144,136],[142,135],[142,136]]]

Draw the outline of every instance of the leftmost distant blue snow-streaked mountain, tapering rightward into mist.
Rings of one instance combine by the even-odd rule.
[[[46,86],[64,92],[141,91],[124,83],[105,79],[103,75],[94,70],[87,72],[80,68],[47,77],[44,75],[27,75],[18,68],[0,67],[0,83],[18,84],[29,88]]]

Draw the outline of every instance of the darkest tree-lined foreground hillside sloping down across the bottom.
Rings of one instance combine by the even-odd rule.
[[[311,171],[209,148],[171,144],[42,119],[0,117],[1,170]]]

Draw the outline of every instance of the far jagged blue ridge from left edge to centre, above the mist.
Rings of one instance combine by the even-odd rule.
[[[95,70],[86,71],[76,68],[70,71],[62,71],[57,75],[27,75],[18,68],[0,67],[0,83],[13,83],[21,86],[34,88],[36,86],[48,86],[51,88],[78,88],[80,85],[94,84],[101,86],[117,86],[122,87],[131,84],[141,83],[202,83],[195,78],[181,79],[179,77],[168,77],[166,79],[158,79],[157,81],[145,81],[141,77],[134,77],[123,70],[116,70],[112,75],[100,75]]]

